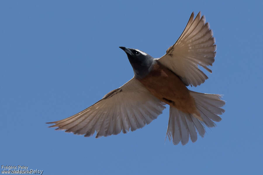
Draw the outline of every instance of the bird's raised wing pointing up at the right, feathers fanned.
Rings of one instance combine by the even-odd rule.
[[[216,55],[215,39],[205,16],[199,12],[194,19],[194,13],[176,43],[169,47],[166,54],[158,61],[177,74],[186,86],[197,86],[208,78],[198,65],[212,73],[207,68],[212,66]]]

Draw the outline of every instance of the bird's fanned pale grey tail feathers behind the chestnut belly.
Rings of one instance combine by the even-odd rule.
[[[195,99],[195,105],[202,121],[195,114],[184,113],[170,106],[166,136],[168,135],[169,140],[172,140],[174,145],[177,145],[180,141],[182,145],[185,145],[189,140],[189,135],[192,142],[195,142],[197,140],[197,132],[203,137],[205,135],[204,125],[215,127],[216,124],[213,121],[219,122],[221,120],[219,115],[225,111],[220,108],[225,104],[225,101],[221,99],[222,95],[204,94],[194,91],[190,91],[190,95]]]

